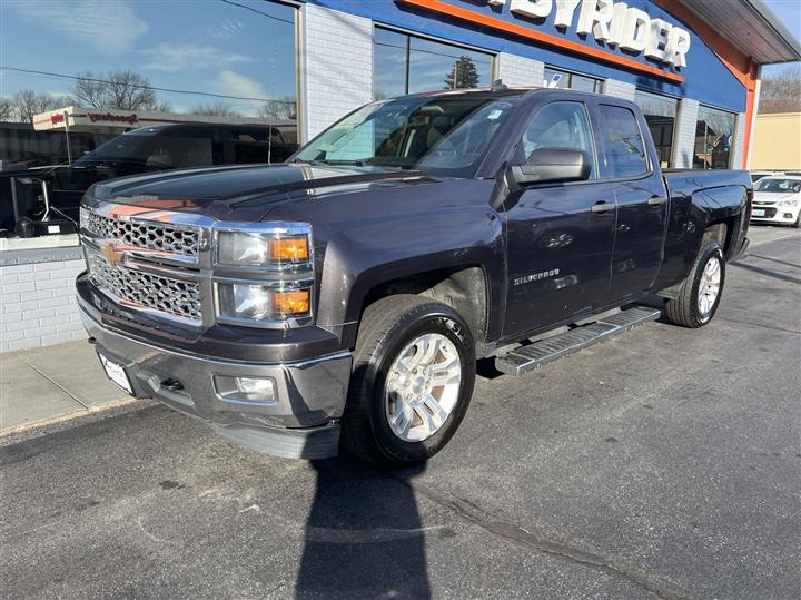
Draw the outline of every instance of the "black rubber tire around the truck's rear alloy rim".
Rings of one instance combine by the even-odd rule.
[[[699,307],[699,293],[701,292],[701,279],[710,260],[718,260],[720,264],[720,286],[718,297],[714,299],[711,309],[702,312]],[[723,248],[718,242],[704,239],[695,264],[690,275],[679,287],[679,296],[675,299],[669,299],[664,306],[664,319],[673,325],[682,327],[703,327],[718,312],[721,296],[723,295],[723,284],[725,283],[725,256]]]

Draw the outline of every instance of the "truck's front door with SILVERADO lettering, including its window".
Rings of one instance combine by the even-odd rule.
[[[542,328],[603,305],[615,235],[615,194],[599,178],[593,117],[585,101],[563,96],[535,109],[513,164],[542,148],[591,157],[586,181],[530,185],[505,205],[508,293],[504,337]],[[570,98],[566,99],[566,98]]]

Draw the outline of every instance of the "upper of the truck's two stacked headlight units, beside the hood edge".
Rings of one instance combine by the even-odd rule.
[[[217,264],[274,267],[284,271],[308,265],[312,257],[308,233],[219,232]]]

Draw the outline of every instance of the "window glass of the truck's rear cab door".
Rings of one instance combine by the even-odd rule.
[[[621,106],[601,106],[609,177],[619,179],[647,173],[647,156],[634,112]]]

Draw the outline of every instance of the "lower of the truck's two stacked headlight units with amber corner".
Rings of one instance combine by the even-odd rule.
[[[303,322],[312,316],[312,285],[313,282],[298,282],[290,287],[218,282],[218,318],[246,321],[250,325]]]

